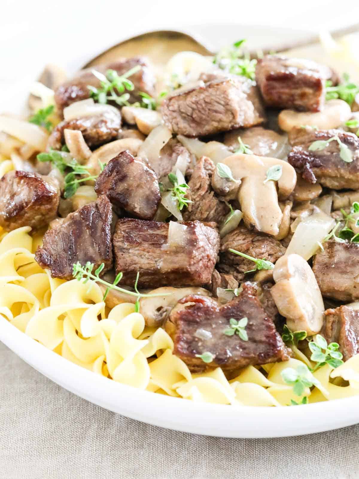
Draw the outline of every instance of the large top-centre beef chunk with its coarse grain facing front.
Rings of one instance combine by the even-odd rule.
[[[213,135],[239,126],[258,125],[263,113],[250,100],[253,84],[241,78],[212,80],[174,91],[162,104],[165,123],[186,137]]]

